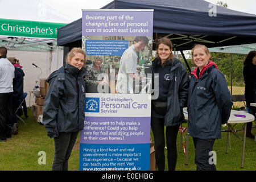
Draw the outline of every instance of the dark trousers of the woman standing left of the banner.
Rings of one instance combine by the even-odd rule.
[[[78,131],[73,133],[59,133],[59,137],[54,138],[55,154],[52,171],[68,171],[68,159],[78,133]]]

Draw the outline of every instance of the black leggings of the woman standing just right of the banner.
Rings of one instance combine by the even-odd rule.
[[[176,138],[179,131],[179,125],[166,127],[166,143],[167,143],[167,162],[169,171],[174,171],[177,162]],[[155,140],[155,160],[159,171],[164,170],[164,118],[151,117],[151,129]]]

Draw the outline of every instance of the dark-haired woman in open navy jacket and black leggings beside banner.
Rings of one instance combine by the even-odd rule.
[[[159,171],[164,170],[164,126],[166,126],[168,169],[174,171],[177,162],[176,138],[180,124],[185,122],[183,107],[187,105],[189,78],[183,63],[172,54],[172,42],[161,38],[156,43],[156,58],[152,62],[152,89],[159,96],[152,100],[151,129],[155,141],[155,159]]]

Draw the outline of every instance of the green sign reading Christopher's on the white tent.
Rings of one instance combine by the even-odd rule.
[[[0,18],[0,35],[56,39],[57,28],[65,25],[66,23],[35,22]]]

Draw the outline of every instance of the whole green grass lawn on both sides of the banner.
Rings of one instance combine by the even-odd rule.
[[[52,161],[54,156],[53,139],[47,137],[46,129],[40,123],[32,120],[32,112],[28,109],[29,117],[22,119],[26,122],[26,125],[22,121],[19,121],[19,134],[7,139],[7,142],[0,142],[0,171],[44,171],[51,170]],[[185,127],[186,124],[183,124]],[[240,129],[241,125],[236,126]],[[252,130],[255,134],[255,129]],[[187,132],[185,133],[187,134]],[[233,134],[230,135],[231,148],[229,148],[228,154],[225,154],[226,150],[226,134],[222,133],[222,139],[214,142],[213,150],[217,153],[217,170],[222,171],[255,171],[256,170],[256,143],[253,139],[246,138],[245,146],[245,160],[244,168],[241,169],[241,156],[242,156],[242,141]],[[242,131],[238,131],[238,134],[242,137]],[[185,165],[185,154],[181,148],[179,152],[179,139],[180,132],[177,136],[177,171],[195,171],[196,165],[194,164],[195,149],[193,147],[192,138],[189,137],[189,149],[188,149],[188,165]],[[187,148],[186,148],[187,150]],[[46,164],[39,164],[38,159],[40,151],[46,152]],[[166,154],[167,156],[167,154]],[[166,169],[167,162],[166,162]],[[79,170],[79,137],[77,143],[73,148],[71,158],[69,159],[69,170]]]

